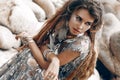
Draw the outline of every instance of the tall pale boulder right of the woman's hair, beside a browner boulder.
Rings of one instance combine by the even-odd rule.
[[[120,75],[120,69],[116,72],[115,66],[120,64],[116,56],[113,57],[113,53],[110,50],[110,38],[114,33],[120,32],[120,21],[112,13],[104,15],[103,28],[96,35],[96,50],[99,53],[99,59],[102,63],[114,74]],[[98,37],[100,35],[100,37]],[[116,39],[116,38],[114,38]]]

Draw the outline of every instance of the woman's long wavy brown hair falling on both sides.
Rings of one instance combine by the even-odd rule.
[[[97,60],[97,54],[94,51],[95,34],[102,25],[103,7],[101,2],[99,0],[69,0],[52,18],[47,20],[44,28],[34,37],[37,45],[40,46],[56,26],[61,27],[65,25],[66,22],[69,21],[72,13],[81,8],[87,9],[95,19],[92,27],[87,31],[91,39],[91,49],[89,55],[87,55],[78,68],[68,76],[67,80],[73,80],[74,78],[77,78],[77,80],[87,80],[94,71]]]

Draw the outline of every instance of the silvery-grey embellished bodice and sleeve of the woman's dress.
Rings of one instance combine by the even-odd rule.
[[[65,79],[79,64],[85,59],[90,50],[90,39],[86,35],[77,36],[73,39],[65,39],[61,42],[58,42],[54,37],[50,35],[50,44],[48,47],[59,54],[61,51],[70,49],[72,51],[77,51],[80,53],[80,56],[73,61],[69,62],[60,67],[59,71],[59,80]]]

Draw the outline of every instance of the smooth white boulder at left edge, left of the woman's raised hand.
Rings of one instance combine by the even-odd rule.
[[[20,40],[16,40],[9,29],[0,26],[0,49],[17,48],[20,44]]]

